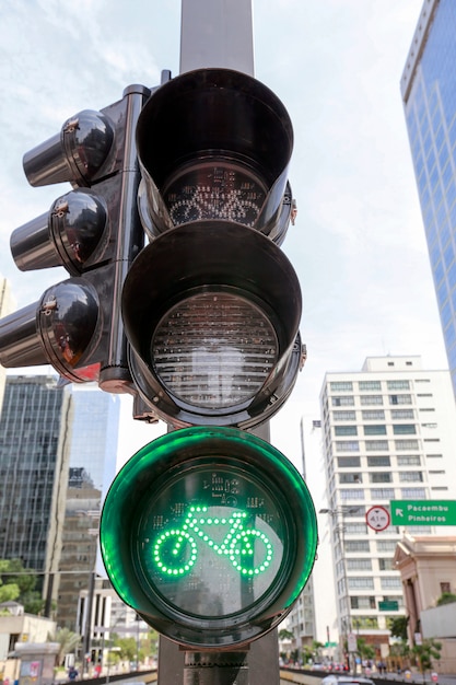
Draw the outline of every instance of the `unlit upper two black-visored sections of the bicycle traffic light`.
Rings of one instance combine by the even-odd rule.
[[[252,428],[293,388],[301,290],[279,247],[292,147],[279,98],[227,69],[178,76],[141,112],[151,243],[126,278],[122,317],[137,390],[174,427]]]

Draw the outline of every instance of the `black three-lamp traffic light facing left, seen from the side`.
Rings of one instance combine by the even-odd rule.
[[[135,130],[149,95],[129,86],[119,102],[80,112],[24,155],[31,185],[70,182],[73,189],[12,233],[14,262],[24,271],[63,266],[71,278],[0,321],[3,367],[50,363],[69,381],[131,391],[120,297],[143,246]]]

